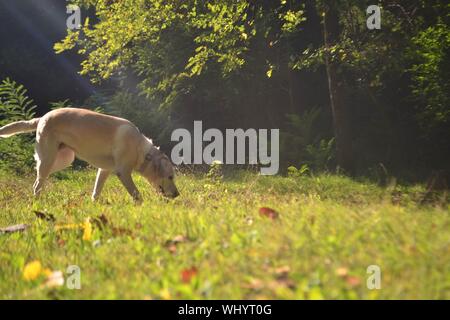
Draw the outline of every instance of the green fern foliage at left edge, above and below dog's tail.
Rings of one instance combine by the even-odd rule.
[[[23,85],[5,79],[0,84],[0,126],[34,117],[36,106],[27,96]],[[33,166],[33,137],[20,135],[0,138],[0,168],[18,173],[31,171]]]

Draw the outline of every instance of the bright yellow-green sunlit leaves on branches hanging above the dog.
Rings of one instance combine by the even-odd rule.
[[[127,68],[141,76],[147,97],[174,96],[189,90],[204,72],[221,69],[226,77],[241,69],[257,34],[276,37],[293,33],[305,21],[303,5],[281,1],[265,5],[251,1],[107,0],[73,1],[94,8],[98,23],[87,20],[55,44],[57,53],[78,48],[85,56],[81,74],[99,82]],[[267,23],[280,23],[280,33]]]

